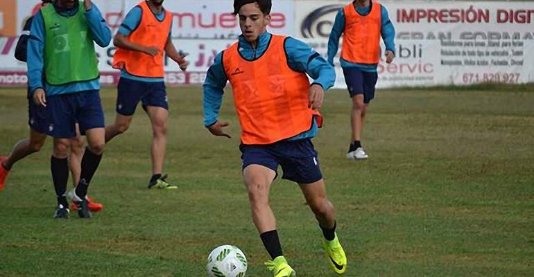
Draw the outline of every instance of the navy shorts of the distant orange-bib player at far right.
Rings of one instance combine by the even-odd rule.
[[[350,97],[363,94],[363,102],[369,104],[374,98],[374,87],[377,85],[378,73],[347,67],[343,69],[343,75],[345,75],[345,83],[349,89]]]

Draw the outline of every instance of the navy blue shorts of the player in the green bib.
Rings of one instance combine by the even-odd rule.
[[[49,120],[46,134],[54,138],[76,137],[76,123],[80,125],[80,133],[83,135],[88,129],[105,127],[98,91],[49,96],[46,98],[46,106]]]

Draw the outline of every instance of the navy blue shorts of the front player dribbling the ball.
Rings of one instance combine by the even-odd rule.
[[[311,139],[279,141],[268,145],[239,146],[243,170],[252,164],[265,166],[275,172],[282,166],[282,179],[298,184],[311,184],[322,179],[322,173]]]

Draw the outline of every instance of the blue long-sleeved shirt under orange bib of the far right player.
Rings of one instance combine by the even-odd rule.
[[[360,15],[368,15],[371,11],[371,6],[368,7],[358,7],[356,12]],[[386,50],[392,51],[395,53],[395,28],[393,23],[391,23],[388,15],[388,10],[384,6],[381,6],[381,36],[384,39],[384,44],[386,44]],[[336,15],[336,20],[334,21],[334,27],[330,33],[328,39],[328,62],[334,65],[334,57],[338,53],[339,48],[339,38],[345,31],[345,12],[343,8],[339,9],[338,14]],[[363,71],[368,72],[377,72],[378,64],[358,64],[354,62],[349,62],[340,58],[341,67],[357,67]]]

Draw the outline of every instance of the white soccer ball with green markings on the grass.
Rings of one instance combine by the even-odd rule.
[[[222,245],[209,253],[206,268],[209,277],[245,277],[247,258],[239,248]]]

